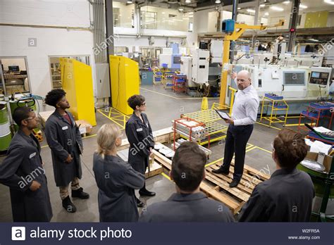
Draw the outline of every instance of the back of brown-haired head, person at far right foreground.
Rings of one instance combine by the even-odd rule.
[[[280,130],[273,141],[273,149],[280,168],[295,168],[307,155],[307,144],[299,132]]]

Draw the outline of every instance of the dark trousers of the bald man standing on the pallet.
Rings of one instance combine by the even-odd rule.
[[[228,126],[226,135],[224,161],[221,168],[229,170],[235,153],[233,180],[241,180],[245,165],[246,145],[253,132],[253,125]]]

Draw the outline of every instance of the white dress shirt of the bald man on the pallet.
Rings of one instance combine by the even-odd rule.
[[[256,122],[259,109],[259,96],[252,85],[238,90],[232,108],[232,119],[235,126],[251,125]]]

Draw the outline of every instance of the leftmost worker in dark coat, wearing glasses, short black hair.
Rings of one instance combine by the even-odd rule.
[[[13,120],[20,127],[0,164],[0,183],[11,192],[14,222],[49,222],[52,208],[47,177],[39,155],[41,147],[32,134],[38,126],[37,115],[30,107],[19,107]]]

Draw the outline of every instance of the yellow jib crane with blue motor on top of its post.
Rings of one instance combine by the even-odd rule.
[[[228,32],[228,34],[225,34],[223,43],[223,69],[221,72],[221,96],[219,99],[219,104],[221,106],[225,106],[226,87],[228,83],[228,67],[230,63],[230,42],[237,40],[246,30],[265,30],[268,27],[283,26],[285,22],[285,20],[280,20],[277,24],[269,26],[239,24],[234,23],[234,20],[225,21],[229,21],[230,23],[224,25],[223,22],[223,32]]]

